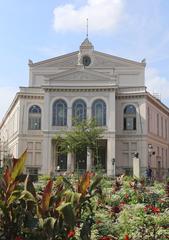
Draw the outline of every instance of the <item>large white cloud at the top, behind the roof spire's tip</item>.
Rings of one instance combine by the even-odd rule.
[[[86,5],[76,8],[65,4],[54,9],[54,29],[62,32],[85,31],[89,19],[89,33],[112,32],[122,19],[124,0],[88,0]]]

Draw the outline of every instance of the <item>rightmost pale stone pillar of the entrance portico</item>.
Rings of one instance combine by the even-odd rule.
[[[108,138],[107,140],[107,175],[112,176],[114,174],[113,161],[115,159],[115,138]]]

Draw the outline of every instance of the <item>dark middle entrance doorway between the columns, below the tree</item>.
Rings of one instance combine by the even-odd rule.
[[[76,171],[84,172],[87,167],[87,150],[76,153],[75,169]]]

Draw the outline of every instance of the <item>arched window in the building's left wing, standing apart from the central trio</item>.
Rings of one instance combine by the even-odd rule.
[[[41,108],[37,105],[33,105],[29,108],[28,129],[41,129]]]

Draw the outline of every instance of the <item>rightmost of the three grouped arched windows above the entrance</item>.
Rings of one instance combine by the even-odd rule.
[[[98,99],[93,102],[92,117],[98,126],[106,126],[106,104],[103,100]]]

